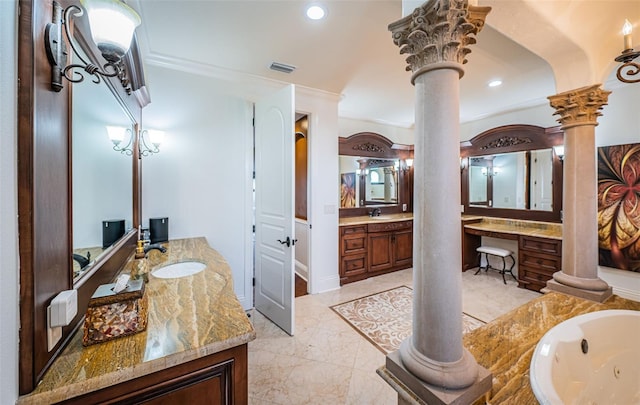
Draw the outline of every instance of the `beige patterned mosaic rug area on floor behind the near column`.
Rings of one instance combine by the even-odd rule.
[[[400,286],[331,307],[383,353],[391,353],[411,334],[413,290]],[[485,322],[462,313],[462,332]]]

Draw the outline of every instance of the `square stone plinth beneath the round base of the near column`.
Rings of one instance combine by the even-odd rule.
[[[471,404],[491,392],[492,375],[486,368],[476,365],[476,381],[466,388],[457,390],[427,384],[405,368],[400,353],[387,355],[386,363],[377,371],[393,389],[398,392],[399,404]]]

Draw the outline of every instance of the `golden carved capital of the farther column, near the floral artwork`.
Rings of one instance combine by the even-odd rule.
[[[607,105],[610,91],[602,90],[599,84],[581,87],[548,97],[551,107],[556,109],[557,121],[562,129],[580,125],[598,125],[600,110]]]

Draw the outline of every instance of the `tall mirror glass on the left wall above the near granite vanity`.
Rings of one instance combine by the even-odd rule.
[[[107,84],[72,88],[73,281],[133,228],[131,153],[113,150],[108,127],[135,131],[135,120]]]

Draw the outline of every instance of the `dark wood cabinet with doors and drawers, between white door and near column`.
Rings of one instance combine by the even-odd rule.
[[[413,221],[340,227],[340,284],[413,265]]]

